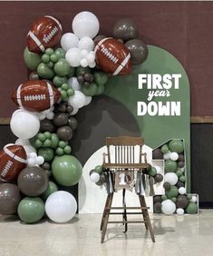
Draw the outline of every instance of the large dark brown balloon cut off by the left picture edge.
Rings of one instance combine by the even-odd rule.
[[[0,214],[15,214],[20,201],[21,195],[17,185],[11,183],[0,184]]]

